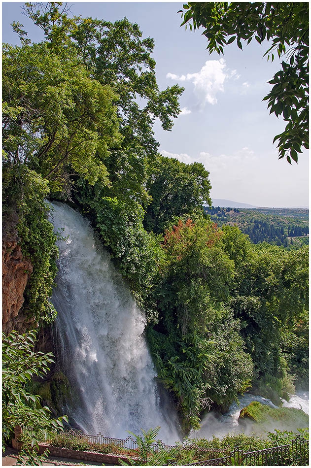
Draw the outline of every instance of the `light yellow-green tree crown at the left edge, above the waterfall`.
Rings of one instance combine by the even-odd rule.
[[[56,55],[46,43],[4,45],[4,165],[26,165],[68,191],[70,174],[107,184],[104,160],[118,145],[114,94],[91,79],[72,50]]]

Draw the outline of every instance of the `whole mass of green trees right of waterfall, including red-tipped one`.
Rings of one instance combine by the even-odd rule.
[[[308,372],[307,343],[295,363],[282,341],[298,337],[306,319],[307,248],[254,246],[236,227],[188,218],[166,232],[163,249],[159,321],[147,336],[184,428],[196,427],[211,401],[224,409],[258,381],[276,404],[288,399],[293,379]]]

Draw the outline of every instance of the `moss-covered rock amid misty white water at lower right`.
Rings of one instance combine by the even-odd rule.
[[[297,428],[309,427],[309,416],[301,409],[274,408],[259,401],[252,401],[242,409],[239,424],[242,426],[247,425],[249,421],[262,429],[273,428],[295,431]]]

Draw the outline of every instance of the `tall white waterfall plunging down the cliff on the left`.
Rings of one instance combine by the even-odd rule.
[[[143,313],[89,223],[62,203],[52,204],[51,219],[65,238],[52,302],[63,366],[77,393],[71,419],[85,433],[122,438],[161,426],[159,438],[173,443],[177,418],[160,402]]]

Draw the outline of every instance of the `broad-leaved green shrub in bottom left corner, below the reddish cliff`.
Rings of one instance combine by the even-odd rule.
[[[62,430],[64,421],[68,423],[67,416],[51,419],[49,408],[42,408],[40,397],[30,391],[33,377],[44,376],[54,362],[52,353],[34,351],[35,335],[35,331],[2,333],[2,448],[18,425],[29,456],[48,431]]]

